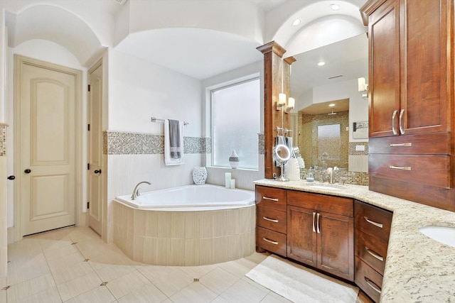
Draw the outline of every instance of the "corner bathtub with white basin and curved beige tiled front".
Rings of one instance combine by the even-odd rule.
[[[114,244],[137,262],[208,265],[255,252],[253,191],[186,185],[114,202]]]

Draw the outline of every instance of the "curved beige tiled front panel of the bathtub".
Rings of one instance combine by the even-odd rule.
[[[255,205],[219,211],[149,211],[113,203],[114,244],[140,263],[208,265],[255,252]]]

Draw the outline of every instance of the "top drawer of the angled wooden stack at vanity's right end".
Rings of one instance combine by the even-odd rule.
[[[374,235],[388,243],[392,212],[363,202],[354,202],[355,229]]]

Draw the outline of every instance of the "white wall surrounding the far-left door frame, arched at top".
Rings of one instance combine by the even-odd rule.
[[[7,170],[8,175],[18,174],[14,172],[14,55],[23,55],[33,57],[34,59],[51,62],[65,67],[71,67],[76,70],[82,70],[82,83],[87,83],[87,69],[82,67],[77,59],[67,49],[50,42],[48,40],[28,40],[16,48],[9,48],[8,53],[8,83],[6,93],[6,123],[9,123],[8,136],[6,143],[6,154],[8,155]],[[87,87],[82,87],[82,125],[87,125]],[[83,132],[82,138],[82,163],[87,162],[87,138]],[[86,201],[86,177],[84,175],[81,186],[82,201]],[[14,182],[8,182],[8,227],[14,226]]]

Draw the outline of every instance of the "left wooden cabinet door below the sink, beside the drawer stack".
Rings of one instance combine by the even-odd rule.
[[[316,211],[287,207],[287,256],[316,267]]]

